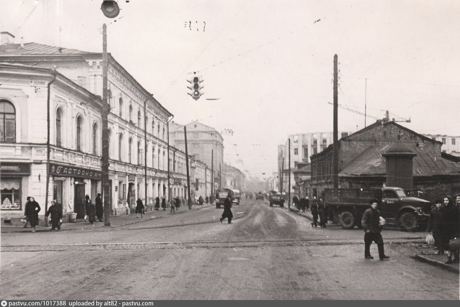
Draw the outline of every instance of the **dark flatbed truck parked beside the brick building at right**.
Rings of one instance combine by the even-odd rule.
[[[325,189],[324,201],[328,210],[339,218],[345,229],[361,228],[362,214],[370,208],[369,201],[376,199],[379,211],[385,220],[395,222],[405,231],[414,231],[426,223],[430,215],[431,203],[417,197],[408,197],[397,187],[382,189]]]

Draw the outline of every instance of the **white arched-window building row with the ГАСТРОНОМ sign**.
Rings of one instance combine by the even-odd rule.
[[[0,71],[5,131],[1,139],[2,219],[21,215],[27,196],[45,202],[48,94],[48,202],[57,199],[65,214],[76,212],[81,218],[85,195],[94,201],[102,190],[102,54],[4,41],[0,46],[0,62],[6,63]],[[56,81],[48,93],[54,75]],[[173,147],[169,148],[171,185],[167,188],[167,125],[172,114],[110,55],[108,81],[108,205],[112,214],[131,212],[138,198],[151,207],[156,197],[168,199],[169,191],[187,198],[185,154]]]

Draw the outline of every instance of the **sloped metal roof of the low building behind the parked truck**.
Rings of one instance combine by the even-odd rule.
[[[389,145],[371,146],[361,155],[342,169],[339,175],[343,176],[375,176],[386,174],[386,159],[382,153]],[[449,161],[440,156],[431,156],[420,148],[410,146],[417,154],[413,159],[414,177],[438,176],[438,175],[459,175],[460,163]]]

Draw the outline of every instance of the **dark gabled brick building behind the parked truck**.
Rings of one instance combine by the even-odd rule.
[[[430,195],[460,191],[458,157],[441,151],[442,142],[418,134],[395,122],[376,123],[339,140],[339,187],[381,187],[386,181],[383,153],[403,142],[416,153],[413,160],[414,189]],[[311,156],[310,195],[333,187],[333,146]]]

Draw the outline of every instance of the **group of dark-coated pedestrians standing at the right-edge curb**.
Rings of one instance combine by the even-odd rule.
[[[450,196],[445,196],[436,200],[435,204],[436,207],[430,212],[427,230],[433,235],[437,254],[444,255],[444,252],[448,251],[446,263],[459,263],[460,194],[455,195],[455,203]]]

